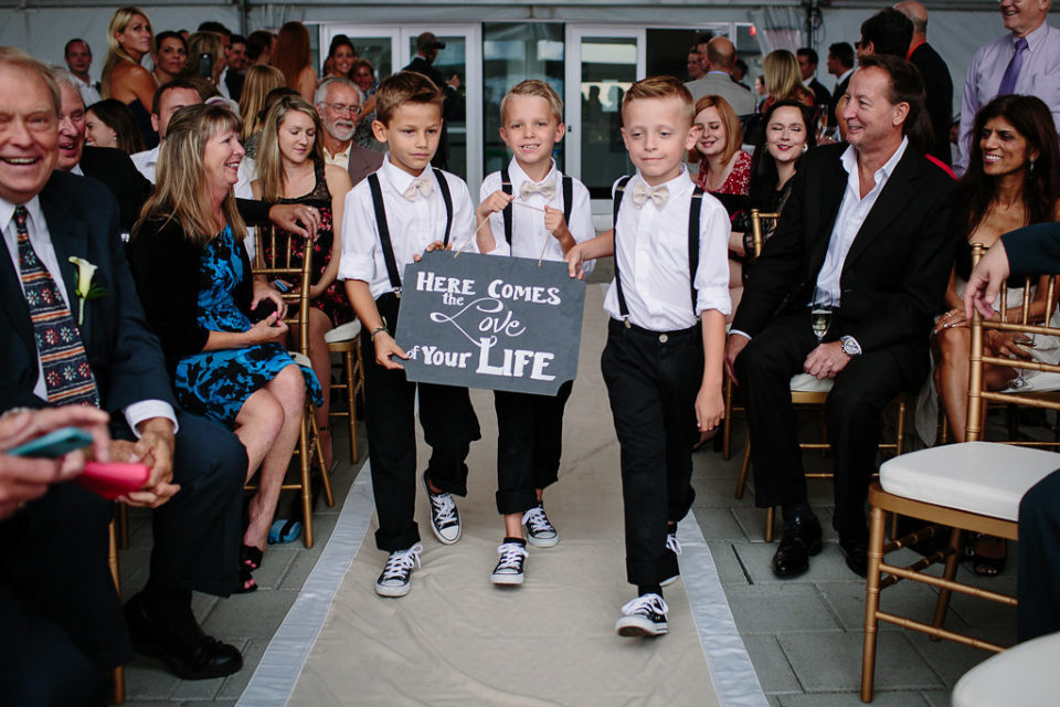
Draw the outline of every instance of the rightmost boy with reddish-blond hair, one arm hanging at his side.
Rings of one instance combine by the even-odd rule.
[[[615,624],[623,636],[667,632],[662,584],[679,573],[677,521],[695,497],[692,444],[724,414],[729,219],[682,163],[699,137],[692,114],[691,95],[674,77],[629,87],[622,138],[637,173],[615,182],[614,231],[566,255],[572,277],[584,261],[615,255],[601,368],[622,447],[626,578],[638,594]]]

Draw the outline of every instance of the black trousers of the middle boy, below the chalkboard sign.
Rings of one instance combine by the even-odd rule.
[[[563,409],[574,381],[555,395],[494,392],[497,411],[497,511],[524,513],[538,505],[538,488],[559,477]]]

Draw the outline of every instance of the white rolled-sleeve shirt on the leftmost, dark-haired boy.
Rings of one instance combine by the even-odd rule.
[[[445,202],[438,191],[434,170],[428,166],[421,176],[432,183],[431,196],[416,193],[414,200],[405,199],[405,190],[415,177],[395,167],[388,154],[383,166],[375,172],[383,194],[386,226],[394,249],[398,272],[404,275],[412,256],[422,254],[427,245],[445,238]],[[459,177],[442,172],[453,197],[453,228],[449,243],[454,250],[477,252],[475,244],[475,210],[467,184]],[[394,287],[386,274],[386,261],[379,241],[372,191],[368,179],[361,180],[346,196],[342,214],[342,258],[339,262],[339,279],[361,279],[369,284],[372,297],[379,298]]]

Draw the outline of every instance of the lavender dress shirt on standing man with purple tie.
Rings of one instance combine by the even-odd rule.
[[[1001,77],[1016,52],[1017,39],[1015,33],[1009,32],[981,46],[972,57],[961,99],[961,139],[957,140],[961,156],[953,163],[957,177],[968,168],[975,114],[997,96]],[[1053,123],[1060,130],[1060,30],[1042,22],[1026,39],[1027,50],[1014,93],[1041,98],[1052,112]]]

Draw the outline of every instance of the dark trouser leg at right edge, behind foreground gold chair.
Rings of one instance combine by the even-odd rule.
[[[1016,637],[1060,631],[1060,469],[1019,502]]]

